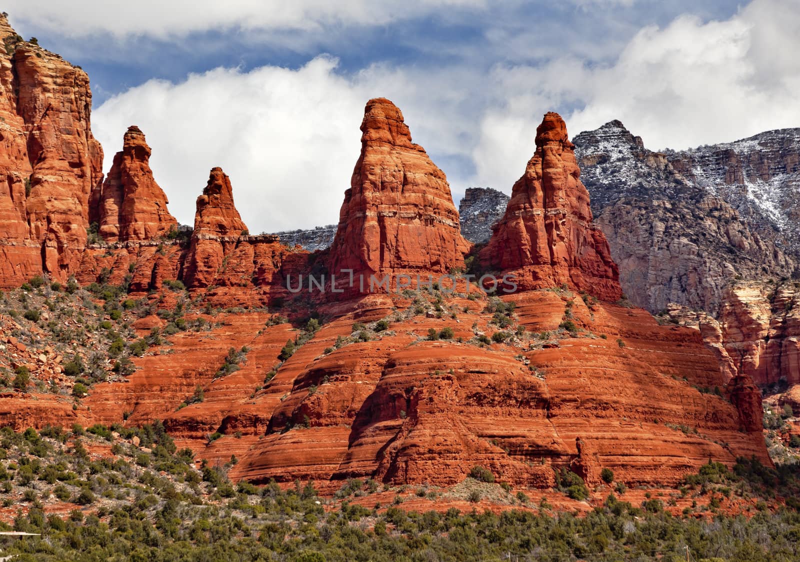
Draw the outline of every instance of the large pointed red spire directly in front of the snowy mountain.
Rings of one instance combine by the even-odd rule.
[[[566,283],[614,301],[622,295],[605,235],[592,225],[589,192],[556,113],[536,129],[536,152],[514,183],[506,214],[481,251],[486,266],[512,272],[521,289]]]

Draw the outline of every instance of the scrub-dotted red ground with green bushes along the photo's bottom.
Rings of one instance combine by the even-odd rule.
[[[476,467],[460,490],[231,482],[237,459],[196,468],[161,424],[0,432],[0,528],[15,560],[795,560],[798,516],[772,511],[797,480],[742,460],[703,465],[679,490],[631,490],[604,474],[528,496]],[[455,496],[461,496],[457,499]],[[559,496],[562,498],[559,500]],[[500,504],[494,498],[507,498]],[[559,506],[559,504],[561,504]],[[562,512],[567,505],[575,512]],[[448,507],[449,506],[449,507]],[[459,509],[458,507],[461,507]],[[488,509],[471,509],[488,508]],[[741,513],[741,516],[733,514]]]

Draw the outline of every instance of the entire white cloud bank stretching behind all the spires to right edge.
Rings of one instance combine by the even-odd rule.
[[[721,21],[683,15],[645,26],[610,62],[565,51],[488,73],[458,58],[344,71],[322,55],[294,70],[219,68],[178,83],[151,80],[105,102],[93,128],[107,166],[126,126],[142,127],[156,179],[184,223],[213,166],[231,176],[251,231],[335,222],[364,103],[375,96],[402,108],[456,200],[473,185],[510,192],[548,110],[573,135],[621,119],[651,148],[800,126],[793,3],[754,0]]]

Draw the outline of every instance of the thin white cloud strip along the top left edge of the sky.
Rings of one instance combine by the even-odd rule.
[[[482,7],[486,0],[7,0],[14,22],[31,22],[58,34],[117,38],[180,37],[206,30],[315,30],[321,26],[382,26],[454,7]]]

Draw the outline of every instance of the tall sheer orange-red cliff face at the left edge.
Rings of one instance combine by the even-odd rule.
[[[22,283],[42,271],[66,279],[86,247],[90,192],[102,181],[89,77],[22,42],[5,17],[0,39],[0,214],[8,220],[2,283]]]

